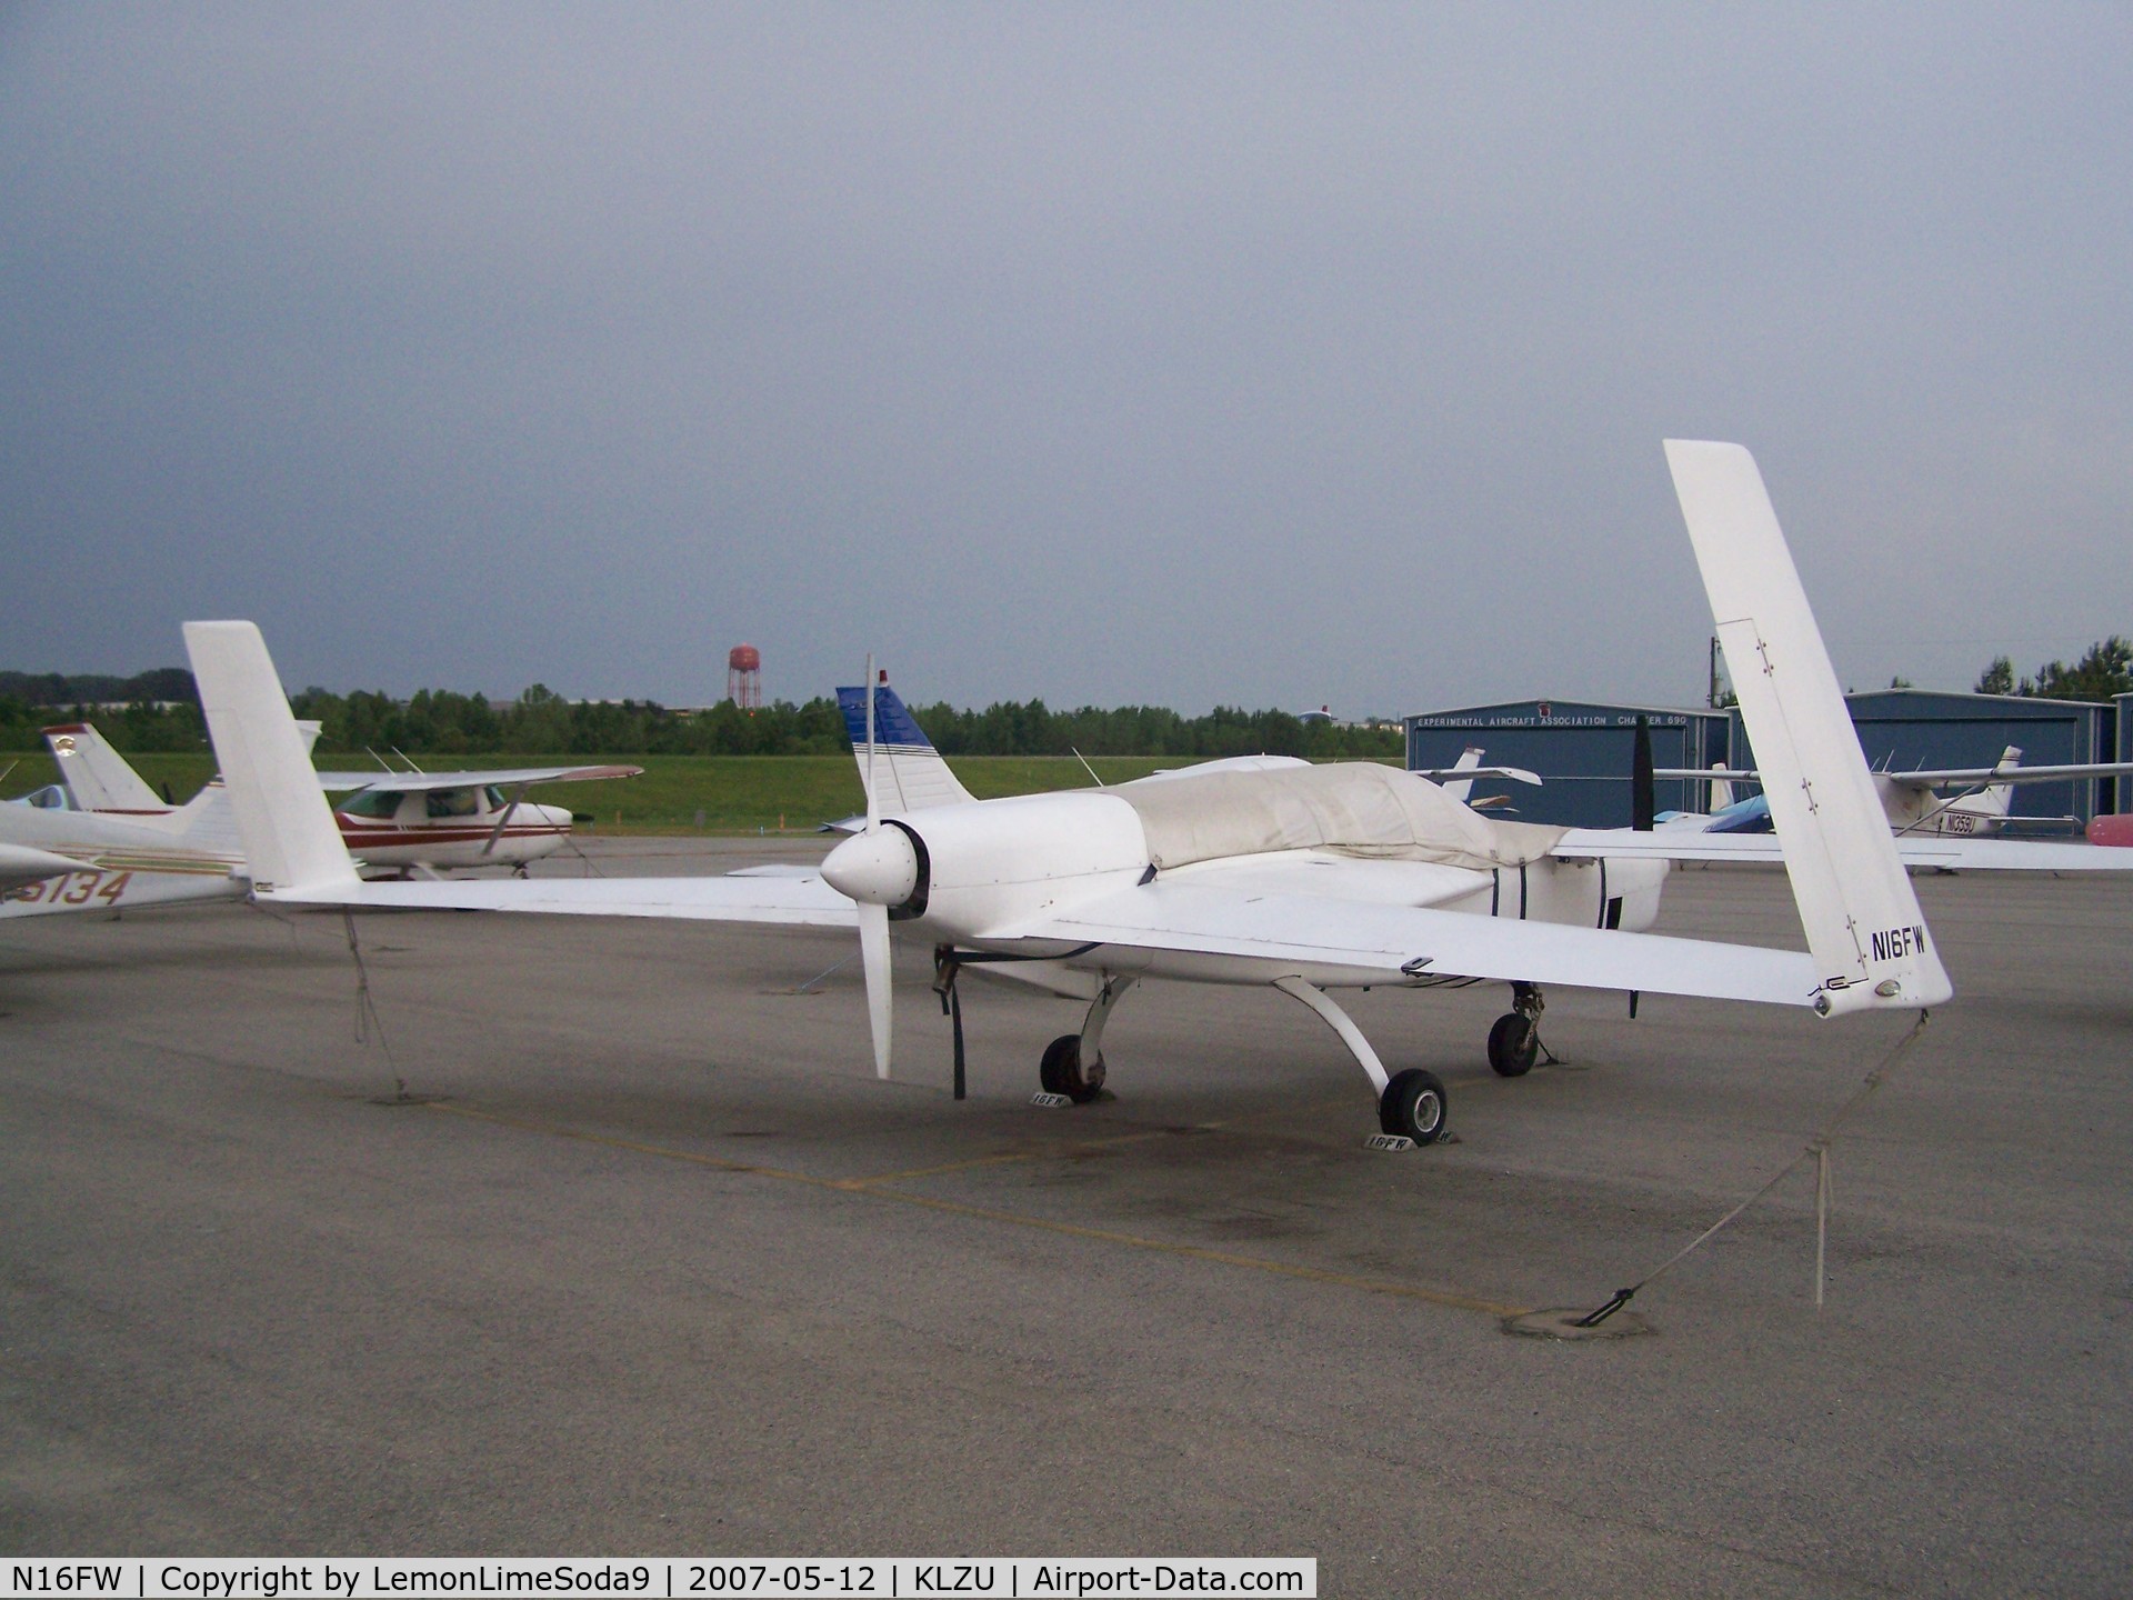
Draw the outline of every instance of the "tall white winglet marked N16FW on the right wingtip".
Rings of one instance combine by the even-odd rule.
[[[1815,1009],[1945,1001],[1954,986],[1926,939],[1755,459],[1738,444],[1668,439],[1666,463],[1822,977]]]

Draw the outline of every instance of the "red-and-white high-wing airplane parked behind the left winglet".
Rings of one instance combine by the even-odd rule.
[[[316,723],[296,723],[309,738]],[[166,815],[132,764],[87,723],[45,730],[60,779],[81,811],[124,817]],[[309,749],[309,745],[307,745]],[[335,809],[365,877],[433,875],[450,868],[525,870],[570,838],[570,809],[525,798],[535,783],[631,779],[640,766],[527,766],[499,772],[320,772],[328,794],[354,791]]]

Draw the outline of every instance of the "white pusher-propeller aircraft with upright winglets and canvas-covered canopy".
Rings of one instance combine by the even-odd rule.
[[[1764,668],[1741,687],[1743,715],[1807,951],[1634,932],[1657,911],[1666,860],[1651,847],[1664,834],[1495,821],[1374,764],[1188,770],[900,813],[868,781],[864,832],[819,873],[363,883],[258,629],[188,623],[186,644],[260,900],[857,926],[883,1075],[889,924],[904,922],[936,945],[949,990],[960,964],[983,960],[1035,958],[1096,979],[1081,1030],[1045,1052],[1045,1084],[1073,1099],[1101,1071],[1105,1020],[1137,979],[1269,983],[1350,1050],[1378,1090],[1380,1126],[1427,1143],[1444,1131],[1444,1086],[1412,1067],[1389,1075],[1327,990],[1499,979],[1521,1001],[1572,983],[1822,1015],[1928,1007],[1952,992],[1753,459],[1732,444],[1666,452],[1719,634],[1732,659]],[[1523,1007],[1514,1018],[1529,1022]]]

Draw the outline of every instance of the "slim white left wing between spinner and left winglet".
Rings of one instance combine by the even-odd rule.
[[[341,881],[282,890],[277,905],[395,907],[403,911],[540,911],[578,917],[678,917],[764,922],[800,928],[857,928],[851,900],[821,873],[732,877],[535,877],[437,879],[414,883]]]

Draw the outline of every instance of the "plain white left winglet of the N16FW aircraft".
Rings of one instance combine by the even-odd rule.
[[[186,623],[186,651],[254,890],[307,892],[352,883],[356,868],[258,627]]]

